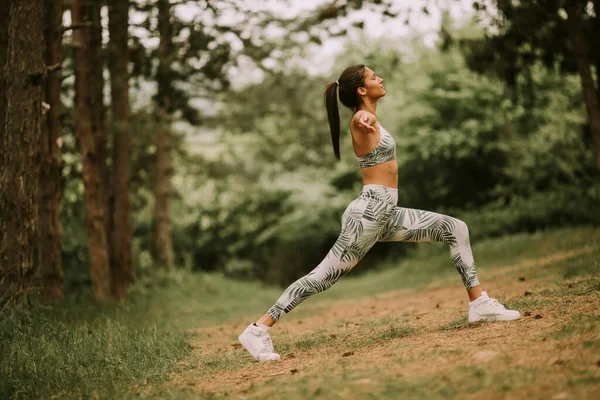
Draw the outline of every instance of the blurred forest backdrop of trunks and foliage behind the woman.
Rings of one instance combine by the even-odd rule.
[[[474,240],[600,223],[598,2],[476,1],[460,22],[455,3],[4,2],[2,301],[124,301],[159,268],[310,271],[361,188],[322,104],[354,63],[386,81],[400,205]],[[375,38],[368,15],[415,32],[438,15],[438,34]],[[378,244],[359,270],[409,248]]]

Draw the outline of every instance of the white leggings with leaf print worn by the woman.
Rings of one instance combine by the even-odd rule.
[[[467,289],[479,285],[467,225],[430,211],[398,207],[398,189],[365,185],[342,216],[342,230],[325,259],[292,283],[269,309],[275,321],[346,275],[376,242],[444,242]]]

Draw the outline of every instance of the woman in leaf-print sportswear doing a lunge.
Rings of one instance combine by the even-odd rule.
[[[398,164],[396,144],[377,118],[377,101],[385,96],[383,79],[364,65],[346,68],[327,85],[325,105],[333,141],[340,158],[340,117],[337,97],[352,111],[352,145],[362,172],[363,190],[342,216],[339,238],[325,259],[308,275],[292,283],[267,313],[239,336],[240,343],[259,361],[279,359],[269,329],[283,312],[314,293],[330,288],[348,273],[376,242],[445,242],[469,295],[469,322],[509,321],[521,317],[481,290],[469,244],[467,225],[456,218],[396,205]]]

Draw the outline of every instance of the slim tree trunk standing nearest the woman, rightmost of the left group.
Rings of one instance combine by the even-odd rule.
[[[154,188],[154,215],[152,253],[157,264],[171,270],[173,268],[173,244],[171,238],[171,202],[173,188],[171,176],[171,63],[173,61],[173,30],[170,23],[171,5],[169,0],[158,0],[158,71],[157,127],[156,135],[156,183]]]

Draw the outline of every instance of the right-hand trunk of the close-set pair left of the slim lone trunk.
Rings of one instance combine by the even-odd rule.
[[[131,259],[129,179],[131,175],[131,127],[129,125],[129,47],[127,33],[129,0],[109,0],[110,56],[113,132],[113,199],[111,272],[113,294],[126,298],[127,287],[135,281]]]

